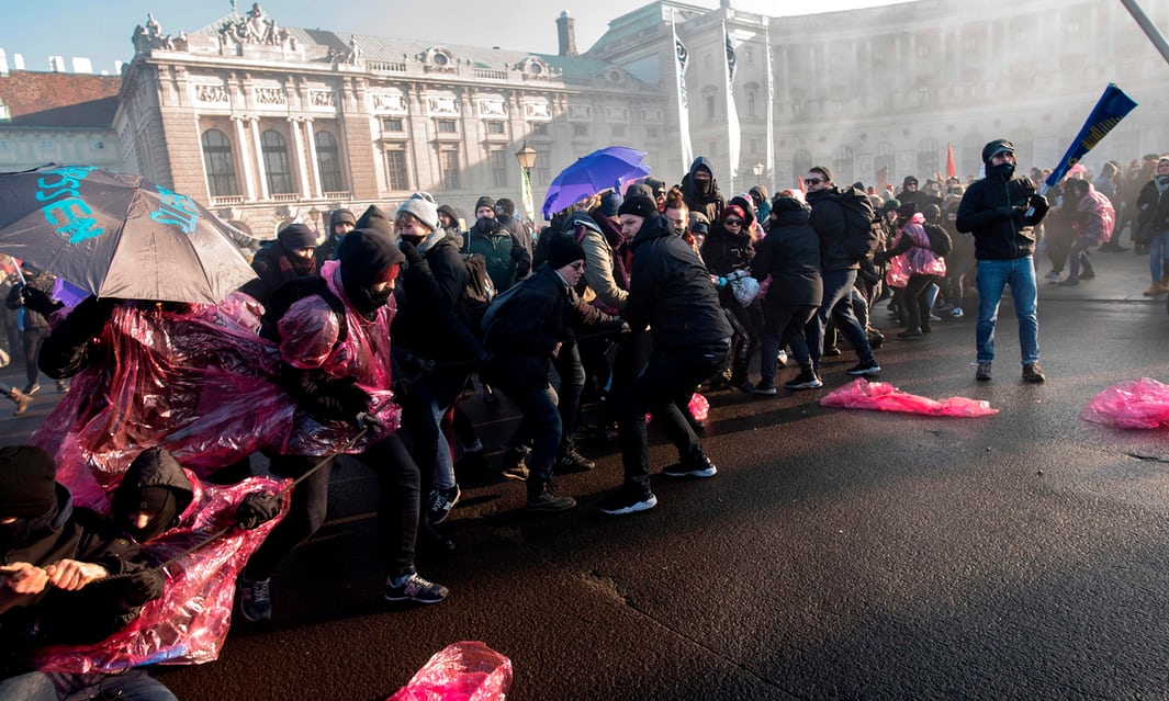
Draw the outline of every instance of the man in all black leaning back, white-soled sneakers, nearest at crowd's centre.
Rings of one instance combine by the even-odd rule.
[[[731,324],[694,249],[675,234],[673,224],[646,196],[628,197],[618,214],[622,235],[632,238],[634,252],[623,315],[634,333],[651,328],[655,347],[649,365],[617,401],[625,479],[601,504],[602,512],[614,515],[657,506],[650,490],[646,412],[678,449],[679,461],[665,469],[667,476],[714,477],[718,472],[676,402],[686,405],[698,383],[719,372],[731,350]]]

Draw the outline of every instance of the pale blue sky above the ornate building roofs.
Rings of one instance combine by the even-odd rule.
[[[891,5],[894,0],[732,0],[732,7],[772,15],[796,15],[851,7]],[[690,0],[718,7],[718,0]],[[609,20],[646,2],[638,0],[268,0],[260,6],[283,27],[359,32],[376,36],[428,39],[452,44],[500,47],[538,54],[556,53],[556,18],[576,20],[576,47],[584,51]],[[49,7],[57,9],[47,11]],[[241,13],[251,0],[238,0]],[[46,5],[0,0],[0,49],[22,54],[27,70],[49,70],[49,56],[88,57],[94,72],[113,74],[116,61],[133,57],[130,36],[153,13],[164,34],[178,35],[210,25],[231,12],[230,0],[72,0]]]

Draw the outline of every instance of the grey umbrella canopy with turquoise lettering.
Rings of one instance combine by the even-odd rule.
[[[0,174],[0,251],[98,297],[216,304],[256,277],[186,195],[90,166]]]

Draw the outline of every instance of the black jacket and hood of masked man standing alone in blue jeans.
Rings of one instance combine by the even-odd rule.
[[[1035,194],[1030,180],[990,174],[990,157],[1002,144],[998,139],[982,148],[988,175],[967,188],[954,222],[959,231],[974,235],[974,256],[980,261],[1014,261],[1035,254],[1033,227],[1047,214],[1045,201],[1026,214]]]

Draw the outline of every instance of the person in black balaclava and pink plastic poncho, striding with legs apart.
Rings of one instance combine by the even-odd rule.
[[[362,426],[373,442],[357,457],[374,470],[380,488],[379,519],[389,564],[386,598],[434,604],[447,588],[428,582],[414,569],[419,530],[420,473],[394,432],[400,411],[390,400],[390,303],[404,256],[389,237],[373,229],[354,229],[341,240],[338,259],[321,266],[328,293],[344,304],[341,320],[320,294],[292,304],[281,318],[281,383],[297,401],[293,432],[271,470],[298,478],[319,465],[338,446],[313,450],[321,430]],[[368,422],[368,423],[366,423]],[[297,450],[300,446],[300,450]],[[318,447],[321,447],[318,445]],[[325,520],[330,466],[312,472],[292,491],[289,515],[256,551],[240,578],[244,618],[271,618],[269,579],[279,560],[310,537]]]

